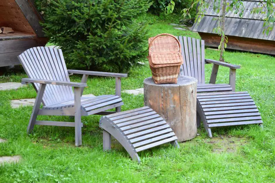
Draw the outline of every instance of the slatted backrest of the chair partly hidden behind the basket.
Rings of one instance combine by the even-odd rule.
[[[204,40],[185,36],[177,38],[181,43],[183,57],[180,75],[194,77],[198,80],[198,84],[204,84]]]

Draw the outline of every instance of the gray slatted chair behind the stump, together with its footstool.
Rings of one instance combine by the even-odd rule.
[[[205,59],[204,40],[178,36],[183,65],[179,75],[191,76],[197,84],[197,126],[203,121],[209,137],[211,127],[262,124],[262,118],[248,92],[235,92],[236,69],[240,66]],[[204,64],[213,64],[209,84],[205,84]],[[219,66],[228,67],[229,84],[215,84]],[[262,126],[262,125],[261,125]]]

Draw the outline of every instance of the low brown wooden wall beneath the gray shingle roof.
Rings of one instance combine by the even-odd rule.
[[[218,47],[221,37],[217,34],[198,32],[204,40],[205,46]],[[226,49],[243,50],[257,53],[275,55],[275,41],[253,39],[238,36],[227,36],[228,43]]]

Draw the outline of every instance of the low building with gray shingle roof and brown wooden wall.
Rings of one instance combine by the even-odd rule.
[[[214,32],[218,22],[218,13],[213,11],[213,2],[210,1],[205,16],[201,22],[195,23],[191,30],[200,34],[201,38],[205,40],[206,46],[218,47],[221,38]],[[231,3],[232,0],[227,2]],[[239,17],[239,12],[235,14],[234,10],[226,12],[225,35],[228,37],[227,49],[275,55],[275,28],[269,34],[266,34],[264,29],[267,27],[263,26],[266,14],[251,13],[253,8],[262,6],[259,5],[259,2],[259,0],[244,0],[245,9],[242,18]],[[262,3],[265,4],[266,2],[262,1]]]

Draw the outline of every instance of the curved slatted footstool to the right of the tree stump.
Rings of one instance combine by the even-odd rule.
[[[209,137],[212,127],[263,123],[248,92],[198,93],[197,111]]]

